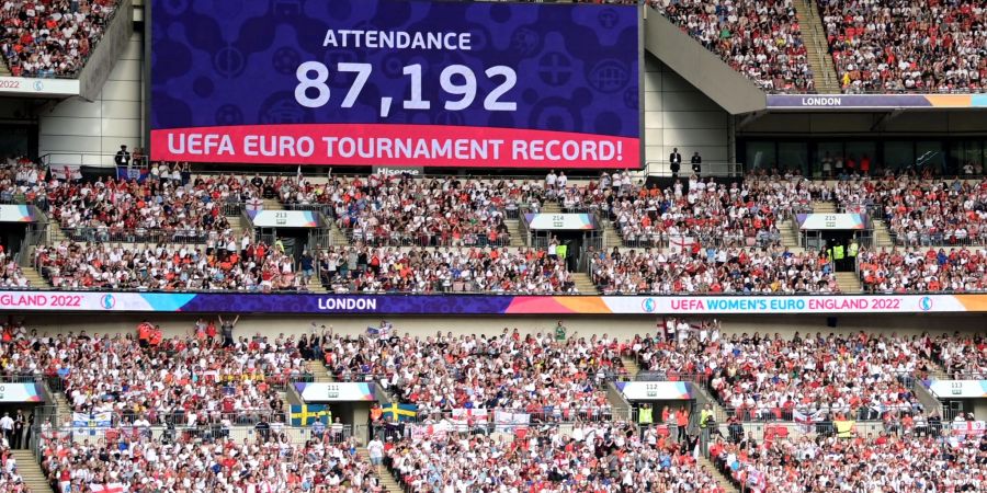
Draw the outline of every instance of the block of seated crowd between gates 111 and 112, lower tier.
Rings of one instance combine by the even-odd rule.
[[[333,374],[372,375],[421,415],[484,408],[532,421],[601,420],[612,415],[603,382],[624,372],[617,341],[605,334],[336,336],[324,352]]]

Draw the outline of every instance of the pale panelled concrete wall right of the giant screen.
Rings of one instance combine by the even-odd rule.
[[[706,162],[733,161],[730,116],[681,76],[645,54],[645,161],[660,163],[678,147],[687,163],[694,151]]]

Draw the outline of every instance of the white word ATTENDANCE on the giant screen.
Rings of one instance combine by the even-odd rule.
[[[468,51],[469,33],[329,30],[322,46],[333,48],[440,49]]]

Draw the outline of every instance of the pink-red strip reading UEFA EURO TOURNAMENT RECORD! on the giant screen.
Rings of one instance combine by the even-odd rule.
[[[243,125],[151,131],[151,159],[251,164],[639,168],[640,141],[441,125]]]

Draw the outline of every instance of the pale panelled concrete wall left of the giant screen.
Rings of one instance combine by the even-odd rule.
[[[112,165],[121,145],[141,147],[144,46],[141,33],[131,43],[93,102],[80,98],[47,107],[38,115],[38,154],[65,153],[65,160],[90,156],[84,164]],[[99,158],[97,154],[105,154]],[[56,161],[57,162],[57,161]]]

